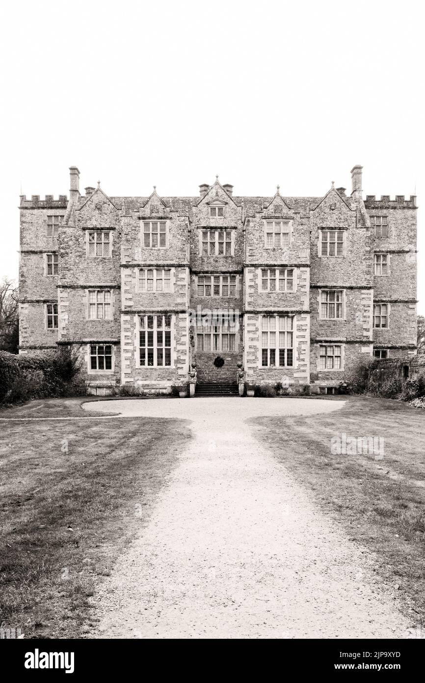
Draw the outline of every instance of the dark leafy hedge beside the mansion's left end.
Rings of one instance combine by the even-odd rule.
[[[0,403],[83,393],[80,363],[68,347],[17,356],[0,351]]]

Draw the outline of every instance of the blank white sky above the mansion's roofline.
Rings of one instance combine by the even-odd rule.
[[[417,194],[423,3],[3,3],[0,277],[17,276],[18,195]],[[422,68],[421,65],[422,64]],[[419,312],[425,313],[423,210]]]

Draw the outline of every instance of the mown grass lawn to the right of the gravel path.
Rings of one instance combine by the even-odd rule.
[[[329,398],[329,397],[327,397]],[[336,413],[256,419],[257,436],[349,537],[375,553],[377,580],[398,587],[425,626],[425,411],[398,401],[341,397]],[[374,454],[332,455],[331,438],[381,436]]]

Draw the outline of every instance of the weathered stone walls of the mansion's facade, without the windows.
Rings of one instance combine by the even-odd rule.
[[[233,197],[219,182],[204,187],[202,197],[107,197],[98,188],[78,191],[78,169],[72,167],[70,201],[64,195],[40,201],[21,197],[20,204],[20,352],[55,348],[57,342],[80,348],[84,372],[95,393],[108,392],[121,382],[141,391],[170,391],[188,380],[191,361],[198,380],[234,382],[243,361],[246,380],[253,384],[282,381],[297,387],[334,386],[349,378],[372,349],[386,348],[390,359],[415,353],[416,335],[416,208],[415,198],[361,195],[361,167],[353,169],[353,195],[332,188],[323,199]],[[229,190],[229,191],[228,191]],[[211,217],[211,203],[224,208]],[[47,217],[64,217],[59,238],[47,235]],[[370,217],[387,216],[389,236],[375,236]],[[265,248],[265,221],[291,225],[289,247]],[[144,221],[166,221],[166,247],[145,247]],[[111,255],[91,257],[89,229],[111,234]],[[202,232],[229,229],[231,253],[203,255]],[[321,256],[320,230],[341,229],[342,257]],[[46,253],[58,253],[59,274],[46,274]],[[387,253],[387,276],[374,276],[373,256]],[[292,292],[263,292],[261,268],[293,268]],[[169,292],[143,292],[139,268],[170,268]],[[235,275],[235,296],[198,296],[201,274]],[[112,320],[89,320],[87,292],[113,292]],[[321,318],[322,288],[343,290],[341,320]],[[59,329],[46,329],[47,302],[59,303]],[[373,329],[373,302],[390,306],[388,329]],[[196,326],[189,311],[229,310],[241,313],[235,352],[196,350]],[[138,316],[173,316],[171,367],[139,367]],[[294,366],[261,367],[260,315],[295,316]],[[193,321],[192,321],[193,322]],[[114,347],[112,372],[89,368],[90,342]],[[319,345],[342,346],[342,370],[319,369]],[[224,358],[222,368],[214,359]]]

